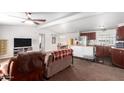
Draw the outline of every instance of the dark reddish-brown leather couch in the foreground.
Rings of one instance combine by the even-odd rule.
[[[11,58],[8,64],[8,77],[14,81],[43,80],[45,72],[45,54],[29,52]]]

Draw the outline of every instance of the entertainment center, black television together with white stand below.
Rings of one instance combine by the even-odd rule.
[[[14,56],[18,53],[32,50],[31,38],[14,38]]]

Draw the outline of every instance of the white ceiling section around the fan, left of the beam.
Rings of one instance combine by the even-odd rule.
[[[75,12],[31,12],[32,19],[46,19],[47,21],[43,24],[49,23],[54,20],[59,20],[61,18],[71,16],[76,14]],[[24,21],[27,18],[25,12],[1,12],[0,13],[0,25],[31,25],[24,24]]]

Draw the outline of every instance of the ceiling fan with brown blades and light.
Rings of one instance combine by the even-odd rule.
[[[22,23],[32,22],[36,25],[40,25],[41,23],[46,22],[46,19],[33,19],[33,18],[31,18],[31,15],[32,15],[31,12],[25,12],[25,15],[27,18],[17,17],[17,16],[12,16],[12,17],[24,19],[24,21],[22,21]]]

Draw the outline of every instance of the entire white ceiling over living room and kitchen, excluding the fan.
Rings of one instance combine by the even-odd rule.
[[[0,25],[28,25],[21,23],[26,18],[21,13],[0,13]],[[56,33],[79,32],[116,28],[124,23],[124,12],[32,12],[32,18],[43,18],[47,21],[38,26],[40,30]]]

